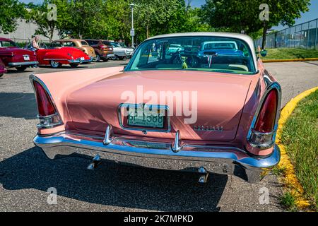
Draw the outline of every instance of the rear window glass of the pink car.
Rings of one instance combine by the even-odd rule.
[[[143,42],[126,71],[194,70],[254,74],[252,49],[230,37],[167,37]]]

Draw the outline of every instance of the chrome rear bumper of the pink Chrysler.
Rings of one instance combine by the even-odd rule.
[[[83,136],[75,133],[57,133],[52,136],[36,136],[34,143],[42,148],[47,157],[55,159],[76,155],[157,169],[196,171],[204,167],[207,172],[232,174],[247,182],[259,182],[278,164],[280,150],[264,158],[252,157],[238,148],[190,145],[184,143],[175,153],[171,143],[127,140],[114,137],[105,145],[103,138]]]

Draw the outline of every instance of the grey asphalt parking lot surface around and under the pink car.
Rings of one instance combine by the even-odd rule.
[[[76,70],[124,66],[108,61]],[[266,64],[281,83],[283,105],[304,90],[318,86],[318,63]],[[89,160],[48,160],[33,145],[37,108],[28,80],[31,73],[72,70],[49,67],[20,73],[9,69],[0,78],[0,211],[280,211],[281,184],[269,175],[259,184],[212,174],[198,184],[198,174],[141,169],[104,163],[95,171]],[[105,69],[107,70],[107,69]],[[57,204],[47,203],[47,190],[57,189]],[[259,197],[269,189],[269,204]]]

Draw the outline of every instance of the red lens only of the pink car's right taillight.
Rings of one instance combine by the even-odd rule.
[[[273,89],[269,92],[266,100],[261,106],[261,111],[257,118],[254,130],[260,133],[270,133],[274,129],[277,111],[277,91]]]

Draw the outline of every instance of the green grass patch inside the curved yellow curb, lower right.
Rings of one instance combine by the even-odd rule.
[[[318,210],[318,90],[298,103],[283,127],[281,140],[306,198]]]

